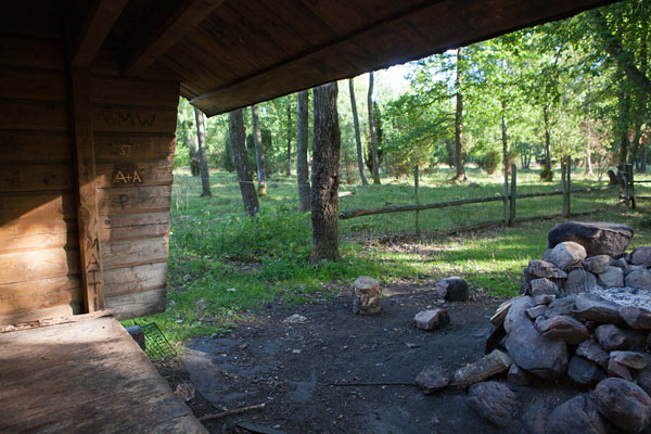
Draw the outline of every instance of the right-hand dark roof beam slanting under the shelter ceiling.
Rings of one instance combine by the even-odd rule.
[[[186,0],[157,4],[150,20],[140,27],[125,50],[123,73],[138,76],[179,39],[204,21],[224,0]]]

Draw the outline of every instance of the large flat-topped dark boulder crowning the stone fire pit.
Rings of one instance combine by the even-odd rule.
[[[567,221],[557,225],[547,235],[547,247],[553,248],[564,241],[583,245],[589,256],[620,257],[633,239],[633,228],[609,222]]]

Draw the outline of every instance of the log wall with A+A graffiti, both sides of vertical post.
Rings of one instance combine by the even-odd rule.
[[[64,42],[0,28],[0,324],[85,311]],[[90,75],[105,307],[165,309],[179,85]]]

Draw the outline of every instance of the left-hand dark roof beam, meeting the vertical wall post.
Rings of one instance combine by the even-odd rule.
[[[95,0],[89,4],[71,51],[71,63],[74,66],[90,66],[128,2],[129,0]]]

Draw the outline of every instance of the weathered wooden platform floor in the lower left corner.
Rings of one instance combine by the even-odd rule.
[[[114,318],[2,333],[0,346],[0,432],[207,433]]]

